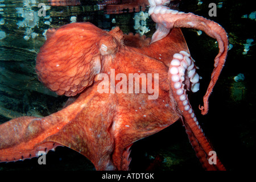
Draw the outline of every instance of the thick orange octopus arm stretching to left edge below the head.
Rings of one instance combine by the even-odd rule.
[[[46,138],[59,133],[69,121],[76,117],[83,103],[92,97],[89,93],[47,117],[19,117],[0,125],[0,162],[38,157],[57,146],[63,146]]]

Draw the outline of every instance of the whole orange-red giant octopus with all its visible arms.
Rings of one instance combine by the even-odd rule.
[[[189,104],[188,93],[199,90],[199,75],[180,27],[203,30],[218,42],[202,114],[207,114],[208,98],[225,63],[226,32],[211,20],[163,4],[150,1],[149,13],[157,23],[151,40],[124,35],[119,27],[104,31],[89,22],[48,30],[36,58],[39,80],[59,95],[79,97],[47,117],[20,117],[0,125],[0,162],[67,146],[97,170],[127,170],[134,142],[181,119],[203,168],[225,170],[217,156],[216,163],[209,162],[213,147]],[[131,82],[129,73],[137,74]],[[134,85],[138,77],[139,93]],[[130,86],[135,86],[131,92]]]

